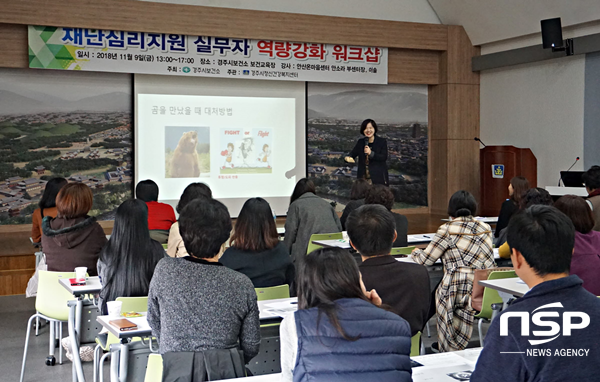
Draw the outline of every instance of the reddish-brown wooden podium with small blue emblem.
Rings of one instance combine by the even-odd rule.
[[[508,185],[515,176],[524,176],[537,187],[537,159],[531,149],[514,146],[486,146],[479,151],[481,163],[481,216],[498,216],[508,198]]]

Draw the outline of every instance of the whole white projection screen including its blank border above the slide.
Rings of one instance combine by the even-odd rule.
[[[135,75],[135,182],[177,205],[194,182],[237,217],[262,197],[285,215],[306,175],[305,83]]]

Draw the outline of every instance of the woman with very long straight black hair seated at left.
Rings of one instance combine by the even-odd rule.
[[[115,226],[98,259],[102,284],[98,306],[108,314],[106,303],[117,297],[147,296],[154,267],[165,251],[148,232],[148,207],[129,199],[117,208]]]

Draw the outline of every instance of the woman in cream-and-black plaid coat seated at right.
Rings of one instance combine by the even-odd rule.
[[[473,218],[477,202],[467,191],[457,191],[448,203],[452,221],[444,223],[425,250],[415,249],[417,264],[433,265],[438,259],[444,264],[444,277],[435,293],[438,314],[439,351],[464,349],[473,332],[471,292],[475,269],[492,268],[492,230],[486,223]]]

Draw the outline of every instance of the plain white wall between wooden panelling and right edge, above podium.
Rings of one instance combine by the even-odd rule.
[[[583,170],[585,56],[481,73],[481,139],[529,147],[538,186],[554,186],[575,157]]]

